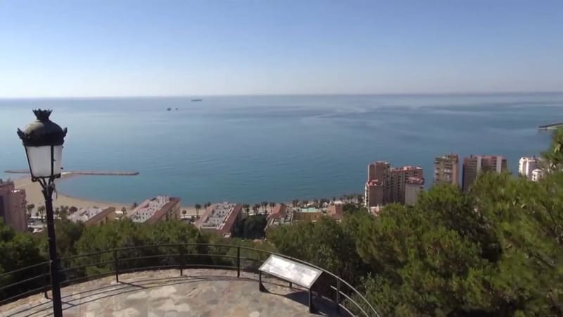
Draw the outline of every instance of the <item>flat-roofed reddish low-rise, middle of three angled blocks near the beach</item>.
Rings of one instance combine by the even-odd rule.
[[[129,216],[136,223],[156,223],[158,220],[180,218],[180,199],[157,196],[143,201]]]

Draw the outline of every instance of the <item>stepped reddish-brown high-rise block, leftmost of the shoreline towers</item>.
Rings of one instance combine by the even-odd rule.
[[[422,168],[403,166],[391,168],[385,161],[369,163],[365,183],[365,205],[405,204],[405,183],[408,178],[424,178]]]

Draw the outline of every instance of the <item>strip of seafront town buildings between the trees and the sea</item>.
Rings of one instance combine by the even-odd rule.
[[[461,165],[461,168],[460,168]],[[457,154],[446,154],[434,159],[432,185],[455,185],[467,192],[483,172],[506,173],[507,159],[503,156],[471,155],[460,162]],[[18,173],[21,171],[18,170]],[[70,177],[72,173],[65,173]],[[80,173],[79,173],[80,174]],[[542,161],[536,156],[519,159],[519,177],[538,181],[543,177]],[[374,161],[367,165],[367,181],[363,194],[346,194],[342,197],[293,199],[277,203],[262,201],[257,204],[235,202],[207,202],[182,206],[178,197],[159,195],[137,204],[126,206],[103,201],[88,201],[58,194],[53,199],[55,217],[66,218],[84,225],[101,225],[111,220],[131,219],[134,223],[156,223],[162,220],[181,220],[199,230],[216,232],[222,237],[233,235],[236,223],[248,216],[266,217],[265,228],[292,225],[298,222],[315,222],[327,216],[340,222],[346,204],[362,205],[377,216],[387,204],[416,204],[424,191],[424,172],[418,166],[393,167],[387,161]],[[39,185],[30,178],[0,180],[0,217],[18,231],[42,232],[45,228],[43,196]]]

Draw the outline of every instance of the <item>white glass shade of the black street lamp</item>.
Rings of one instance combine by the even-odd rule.
[[[43,147],[27,146],[25,151],[27,152],[27,160],[30,163],[32,177],[49,178],[61,174],[61,163],[63,161],[62,144]]]

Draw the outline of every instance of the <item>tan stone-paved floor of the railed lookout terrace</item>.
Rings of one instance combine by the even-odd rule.
[[[315,316],[308,313],[307,293],[286,282],[265,279],[268,293],[258,290],[258,275],[221,270],[146,271],[101,278],[64,287],[63,315],[74,316]],[[315,304],[323,315],[340,316],[326,302]],[[51,300],[33,295],[0,306],[1,317],[51,316]]]

